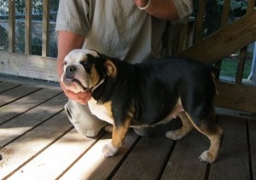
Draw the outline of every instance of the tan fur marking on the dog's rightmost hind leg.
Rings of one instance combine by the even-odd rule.
[[[215,127],[211,131],[209,129],[202,129],[198,125],[195,125],[194,120],[189,116],[189,113],[186,114],[191,124],[195,126],[195,129],[207,136],[211,142],[210,148],[207,151],[203,152],[199,159],[201,161],[206,161],[207,163],[214,162],[218,157],[218,150],[220,148],[222,137],[224,136],[224,131],[218,125],[215,125]],[[213,117],[214,114],[212,112],[212,118]]]

